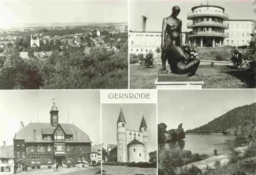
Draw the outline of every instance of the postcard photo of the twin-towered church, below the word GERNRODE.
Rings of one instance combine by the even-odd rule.
[[[156,104],[101,108],[102,174],[157,174]]]

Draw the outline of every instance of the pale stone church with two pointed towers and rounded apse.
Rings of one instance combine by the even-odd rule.
[[[139,130],[130,130],[127,129],[122,110],[120,111],[117,120],[117,161],[148,162],[147,125],[144,116]]]

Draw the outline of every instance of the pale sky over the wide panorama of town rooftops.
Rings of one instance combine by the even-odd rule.
[[[126,21],[126,0],[0,1],[0,27],[9,23],[114,23]]]

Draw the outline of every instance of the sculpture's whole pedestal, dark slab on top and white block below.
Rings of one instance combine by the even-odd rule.
[[[203,80],[199,75],[188,77],[173,73],[159,72],[155,81],[156,89],[202,89]]]

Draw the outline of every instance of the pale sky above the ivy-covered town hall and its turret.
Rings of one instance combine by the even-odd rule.
[[[0,91],[0,141],[13,144],[13,137],[30,122],[50,123],[53,98],[59,110],[59,123],[75,124],[87,133],[93,144],[100,144],[99,90]],[[37,113],[38,107],[38,113]],[[38,114],[38,115],[37,115]]]

